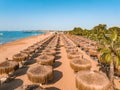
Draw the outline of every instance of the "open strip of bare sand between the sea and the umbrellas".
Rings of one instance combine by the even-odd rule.
[[[5,58],[12,59],[14,54],[19,53],[21,50],[39,42],[40,40],[48,37],[51,33],[40,34],[36,36],[30,36],[22,39],[18,39],[5,44],[0,44],[0,63],[5,60]]]

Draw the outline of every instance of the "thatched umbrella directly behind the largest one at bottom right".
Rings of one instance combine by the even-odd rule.
[[[70,66],[74,71],[90,70],[91,62],[87,59],[76,58],[70,61]]]

